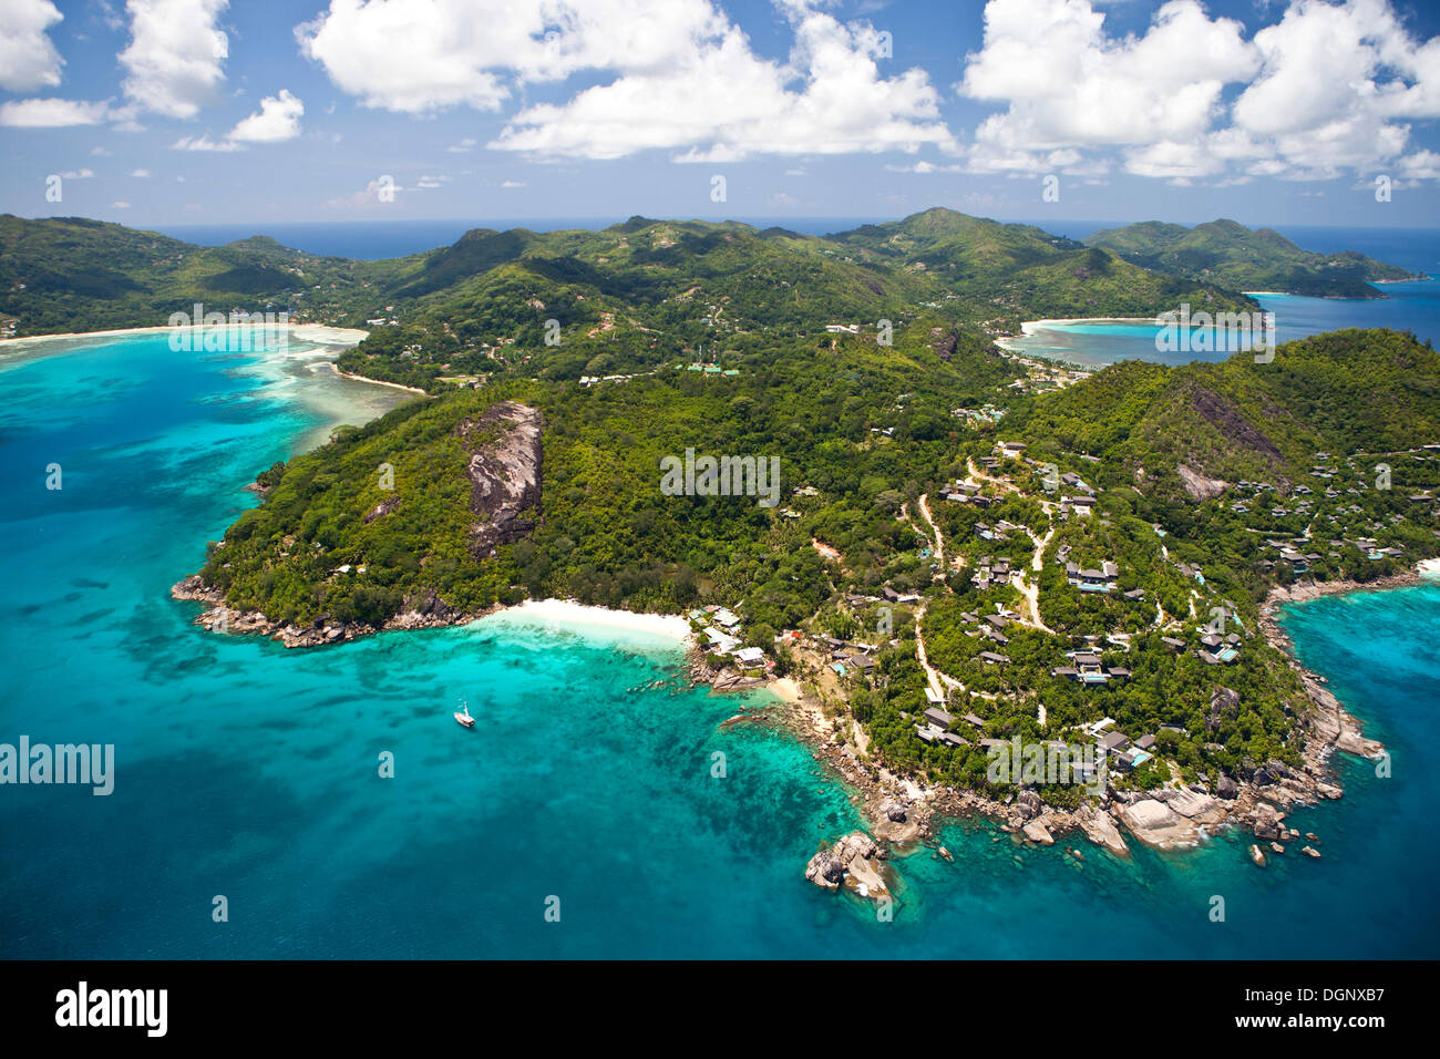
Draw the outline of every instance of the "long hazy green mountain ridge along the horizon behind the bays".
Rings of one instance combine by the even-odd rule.
[[[616,331],[632,320],[688,341],[703,330],[690,318],[704,316],[690,298],[749,330],[924,310],[1014,330],[1025,318],[1151,314],[1181,301],[1253,307],[1030,225],[948,209],[824,238],[642,216],[598,232],[474,229],[449,246],[369,262],[265,236],[194,246],[82,218],[0,218],[0,314],[19,334],[158,324],[193,301],[264,301],[295,320],[348,326],[400,314],[442,331],[459,316],[485,337],[518,337],[546,318],[589,329],[609,313]],[[539,303],[560,308],[536,317]]]

